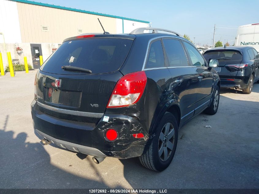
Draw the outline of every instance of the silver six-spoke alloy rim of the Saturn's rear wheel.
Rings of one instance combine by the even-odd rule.
[[[158,142],[158,155],[161,161],[166,161],[172,153],[174,141],[174,128],[173,124],[167,123],[163,127]]]

